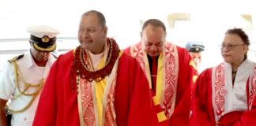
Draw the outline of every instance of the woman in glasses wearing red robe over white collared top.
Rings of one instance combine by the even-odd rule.
[[[248,36],[229,29],[221,44],[224,62],[198,76],[191,126],[256,125],[256,64],[247,59]]]

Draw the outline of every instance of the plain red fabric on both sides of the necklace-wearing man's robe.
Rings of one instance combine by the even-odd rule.
[[[73,50],[58,57],[52,66],[36,111],[33,126],[79,126],[77,90],[71,87]],[[75,73],[74,73],[75,74]],[[118,126],[157,126],[149,82],[137,61],[123,53],[119,58],[115,87]],[[73,80],[75,83],[75,80]],[[76,89],[77,87],[75,87]]]

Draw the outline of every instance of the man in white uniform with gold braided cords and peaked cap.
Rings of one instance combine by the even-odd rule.
[[[7,125],[5,108],[12,113],[12,126],[32,125],[44,80],[57,58],[51,52],[58,29],[40,25],[27,31],[30,50],[7,61],[0,72],[0,126]]]

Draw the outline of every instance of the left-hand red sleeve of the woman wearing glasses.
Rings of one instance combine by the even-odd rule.
[[[196,80],[196,87],[192,101],[194,107],[190,120],[191,126],[212,126],[216,125],[213,114],[212,102],[212,69],[205,69]]]

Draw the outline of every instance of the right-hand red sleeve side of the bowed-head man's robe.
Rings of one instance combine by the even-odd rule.
[[[179,55],[178,87],[175,101],[175,110],[169,120],[169,125],[189,125],[191,88],[194,85],[193,77],[198,72],[190,65],[191,57],[186,49],[177,46]]]

